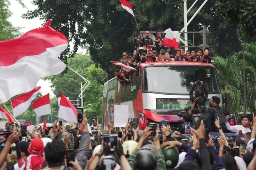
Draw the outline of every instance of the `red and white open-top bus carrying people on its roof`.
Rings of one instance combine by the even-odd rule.
[[[221,99],[217,71],[212,64],[200,62],[148,62],[141,63],[138,73],[129,72],[126,89],[113,78],[104,84],[102,117],[113,123],[114,104],[128,105],[129,119],[139,123],[139,129],[149,123],[169,120],[173,130],[179,128],[181,111],[192,105],[189,92],[197,80],[208,83],[208,99]],[[209,107],[206,101],[206,107]],[[222,105],[222,103],[220,103]]]

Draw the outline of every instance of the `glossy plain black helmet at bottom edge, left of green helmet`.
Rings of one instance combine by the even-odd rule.
[[[155,170],[156,166],[155,155],[147,149],[140,150],[133,161],[133,169],[135,170]]]

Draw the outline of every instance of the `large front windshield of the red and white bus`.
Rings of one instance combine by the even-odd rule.
[[[203,81],[208,94],[220,92],[214,67],[155,66],[144,69],[143,91],[162,94],[189,94],[193,83]]]

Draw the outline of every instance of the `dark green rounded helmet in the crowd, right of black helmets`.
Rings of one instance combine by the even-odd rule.
[[[166,168],[174,168],[177,165],[179,159],[179,152],[177,147],[175,146],[173,148],[167,149],[166,146],[163,147],[161,150],[165,157]]]

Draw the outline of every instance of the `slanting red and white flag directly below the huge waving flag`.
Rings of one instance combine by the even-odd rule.
[[[14,114],[14,117],[25,112],[28,109],[28,107],[30,107],[31,102],[36,98],[37,94],[40,92],[40,89],[40,86],[36,87],[33,90],[11,100],[12,113]]]

